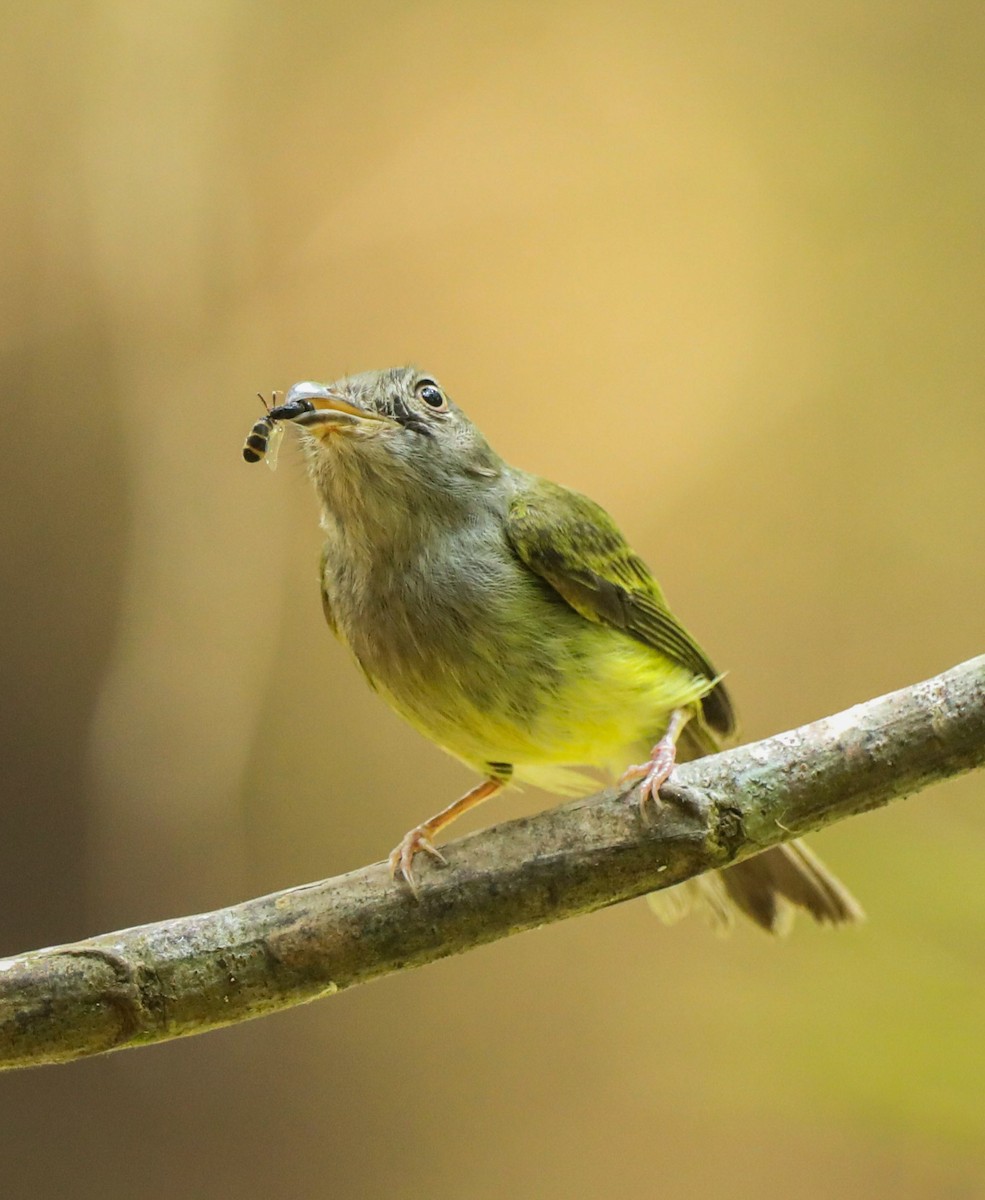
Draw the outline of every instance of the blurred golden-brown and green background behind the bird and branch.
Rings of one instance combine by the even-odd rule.
[[[985,650],[984,52],[972,0],[8,6],[0,953],[470,782],[325,630],[258,390],[436,372],[613,512],[747,738]],[[5,1075],[4,1195],[983,1196],[984,787],[816,839],[859,931],[636,902]]]

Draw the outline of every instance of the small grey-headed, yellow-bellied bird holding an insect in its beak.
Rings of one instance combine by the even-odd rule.
[[[433,376],[298,383],[258,422],[264,437],[276,421],[300,430],[322,503],[329,625],[397,713],[484,776],[390,854],[413,890],[415,856],[444,863],[436,834],[510,781],[575,794],[591,787],[585,768],[621,772],[643,806],[677,758],[734,738],[721,676],[608,514],[505,463]],[[244,454],[259,461],[259,439]],[[699,905],[720,926],[738,910],[770,932],[795,907],[861,918],[799,841],[650,899],[665,919]]]

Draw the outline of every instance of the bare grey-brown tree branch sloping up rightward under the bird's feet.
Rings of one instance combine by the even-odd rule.
[[[0,960],[0,1067],[262,1016],[591,912],[985,766],[985,655],[679,767],[653,822],[602,792],[444,847],[420,902],[382,863],[197,917]],[[674,803],[674,800],[679,803]]]

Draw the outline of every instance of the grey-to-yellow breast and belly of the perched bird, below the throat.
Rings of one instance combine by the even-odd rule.
[[[443,532],[382,559],[337,538],[323,586],[373,686],[480,770],[608,763],[707,689],[575,612],[497,528]]]

